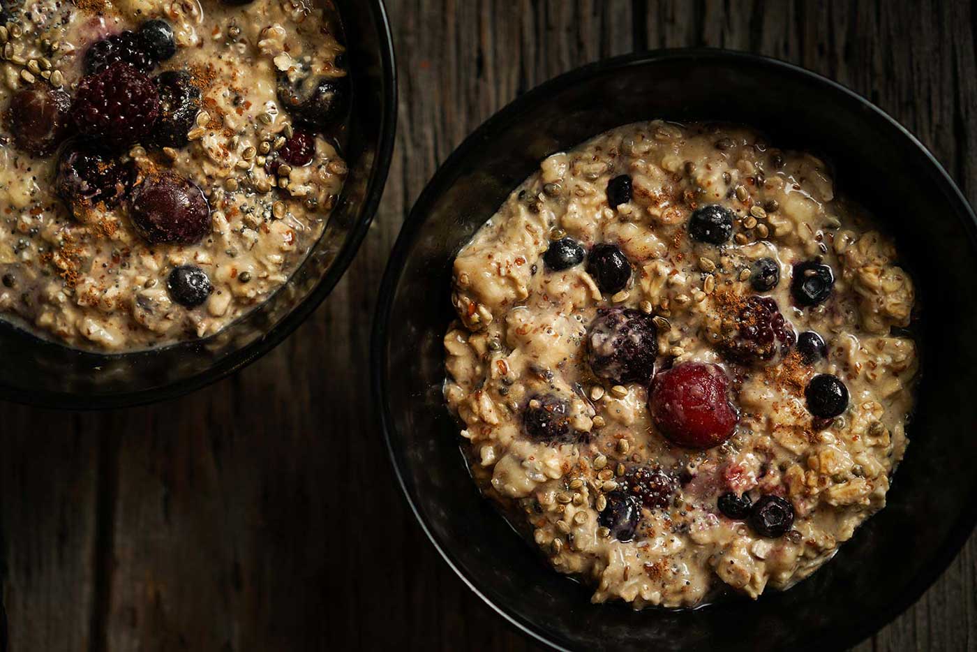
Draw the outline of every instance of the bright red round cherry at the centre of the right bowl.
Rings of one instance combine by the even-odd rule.
[[[730,403],[726,373],[706,363],[682,363],[659,371],[648,404],[658,432],[691,449],[722,444],[740,420]]]

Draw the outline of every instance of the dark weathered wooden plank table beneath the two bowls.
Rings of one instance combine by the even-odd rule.
[[[387,252],[438,163],[555,74],[646,48],[772,55],[870,98],[977,199],[977,16],[965,0],[388,6],[401,79],[390,181],[359,257],[309,322],[177,401],[0,404],[0,580],[16,652],[537,649],[414,524],[368,404],[367,342]],[[975,575],[971,537],[857,649],[977,650]]]

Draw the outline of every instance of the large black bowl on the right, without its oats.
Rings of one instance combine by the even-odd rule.
[[[928,308],[911,445],[888,506],[810,579],[753,602],[691,611],[592,605],[480,497],[441,395],[455,252],[540,159],[618,125],[719,119],[821,152],[842,193],[871,207],[917,272]],[[394,248],[373,332],[373,383],[407,500],[448,564],[498,613],[567,649],[841,649],[870,635],[947,567],[977,520],[975,216],[940,164],[881,110],[794,65],[674,51],[588,65],[480,127],[418,199]]]

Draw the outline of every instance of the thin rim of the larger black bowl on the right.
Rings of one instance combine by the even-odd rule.
[[[649,65],[676,60],[700,60],[703,62],[726,60],[738,62],[743,65],[758,65],[779,68],[787,73],[804,77],[809,82],[820,85],[827,91],[839,93],[848,100],[854,101],[855,104],[860,105],[863,109],[867,109],[869,112],[871,112],[876,119],[887,122],[890,127],[894,128],[899,135],[906,138],[910,144],[914,146],[914,149],[917,150],[926,160],[928,160],[929,164],[932,165],[938,173],[937,176],[940,182],[943,184],[944,190],[949,191],[949,196],[960,204],[964,214],[970,218],[970,238],[972,242],[977,242],[977,236],[975,236],[975,234],[977,234],[977,214],[974,213],[973,207],[959,190],[956,182],[946,171],[940,161],[937,160],[932,152],[930,152],[915,136],[913,136],[913,134],[906,127],[900,124],[898,120],[893,118],[884,110],[876,107],[869,100],[862,97],[855,91],[822,74],[809,70],[800,65],[790,64],[780,59],[754,54],[751,52],[727,50],[723,48],[666,48],[634,52],[581,65],[533,87],[529,92],[517,97],[505,107],[493,113],[488,120],[483,122],[477,129],[475,129],[475,131],[469,134],[465,140],[462,141],[461,144],[458,145],[458,147],[455,148],[450,155],[448,155],[445,161],[438,167],[438,170],[435,172],[434,176],[424,187],[424,190],[421,192],[420,196],[418,196],[413,207],[410,209],[410,213],[404,220],[401,233],[399,234],[396,242],[394,243],[394,247],[391,250],[387,268],[384,272],[383,280],[380,284],[380,290],[377,295],[377,305],[373,317],[373,328],[370,341],[370,369],[372,376],[370,388],[372,392],[372,399],[379,406],[379,417],[381,429],[383,431],[383,439],[387,447],[390,462],[394,466],[398,484],[401,487],[404,499],[407,501],[407,504],[410,507],[410,511],[413,512],[414,518],[420,525],[421,530],[424,531],[424,534],[427,536],[428,540],[434,545],[435,549],[438,550],[441,557],[446,561],[451,570],[454,571],[455,575],[457,575],[468,588],[478,595],[492,611],[501,616],[510,626],[521,631],[524,635],[527,635],[555,650],[570,652],[573,648],[567,647],[563,642],[552,640],[545,630],[538,628],[534,623],[523,618],[520,614],[510,612],[505,605],[494,603],[485,592],[476,586],[476,581],[465,574],[460,563],[456,560],[453,552],[448,549],[448,545],[446,545],[446,543],[442,543],[438,539],[434,531],[428,526],[422,517],[421,511],[417,505],[414,489],[411,486],[408,486],[405,475],[402,472],[404,459],[395,448],[392,436],[394,431],[394,419],[391,413],[390,404],[386,400],[386,397],[389,395],[387,377],[385,374],[385,369],[387,368],[388,364],[387,326],[390,322],[391,309],[396,296],[397,285],[400,281],[401,275],[404,271],[404,265],[407,260],[408,247],[416,239],[416,235],[420,227],[424,224],[428,214],[430,213],[432,204],[437,200],[438,196],[440,196],[441,187],[445,185],[446,181],[454,173],[454,170],[459,167],[458,161],[463,159],[469,151],[478,148],[480,143],[485,142],[488,134],[505,125],[513,117],[520,113],[524,107],[530,106],[537,100],[541,100],[549,95],[552,95],[554,92],[566,86],[590,79],[592,77],[600,76],[606,72],[619,68]],[[916,600],[919,599],[927,588],[932,586],[936,579],[956,558],[960,548],[966,542],[975,526],[977,526],[977,501],[971,501],[971,504],[974,506],[969,510],[969,512],[964,511],[957,518],[956,523],[953,525],[950,531],[950,536],[946,541],[943,542],[942,546],[935,553],[934,563],[930,564],[927,571],[921,573],[914,580],[909,589],[904,591],[902,595],[893,596],[884,609],[875,612],[873,618],[858,621],[850,627],[840,630],[839,637],[835,639],[835,642],[839,642],[842,647],[848,648],[868,638],[874,632],[880,630],[882,627],[893,621],[897,616],[906,611]],[[817,639],[811,639],[804,645],[804,649],[813,649],[815,646],[819,645],[820,642],[821,641]]]

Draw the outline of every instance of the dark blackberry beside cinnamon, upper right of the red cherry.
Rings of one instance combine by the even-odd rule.
[[[793,328],[787,324],[769,296],[749,296],[737,316],[735,329],[721,342],[723,353],[734,362],[747,365],[786,355],[794,343]]]

